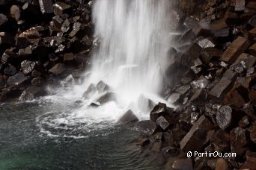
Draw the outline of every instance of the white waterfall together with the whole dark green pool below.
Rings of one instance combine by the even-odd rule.
[[[0,107],[0,169],[159,169],[135,145],[139,133],[118,119],[144,100],[163,101],[163,72],[171,42],[168,0],[96,0],[95,51],[85,83],[56,95]],[[117,100],[89,107],[103,95],[82,94],[103,81]],[[146,103],[147,104],[147,103]]]

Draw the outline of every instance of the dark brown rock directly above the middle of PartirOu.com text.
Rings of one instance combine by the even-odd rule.
[[[225,130],[219,129],[216,131],[216,133],[213,134],[210,142],[214,146],[215,151],[229,151],[231,136]]]

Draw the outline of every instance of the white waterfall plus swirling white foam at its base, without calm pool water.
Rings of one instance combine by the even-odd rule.
[[[130,108],[139,119],[148,119],[149,113],[138,107],[143,105],[138,103],[141,94],[156,103],[165,102],[158,94],[162,90],[171,42],[171,21],[166,19],[170,15],[169,5],[168,0],[94,1],[93,22],[100,47],[94,53],[90,74],[86,73],[90,76],[82,86],[73,86],[72,90],[59,93],[62,95],[45,99],[67,107],[63,103],[81,100],[90,84],[104,81],[118,95],[118,101],[98,108],[88,107],[97,94],[82,101],[77,108],[47,112],[37,120],[45,133],[49,133],[46,126],[59,129],[78,126],[87,131],[106,128],[114,125]],[[72,78],[67,78],[70,80]]]

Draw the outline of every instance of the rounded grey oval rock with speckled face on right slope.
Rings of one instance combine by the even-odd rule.
[[[232,119],[232,108],[229,106],[221,107],[216,114],[216,122],[218,126],[225,130],[229,125],[231,125]]]

